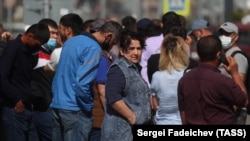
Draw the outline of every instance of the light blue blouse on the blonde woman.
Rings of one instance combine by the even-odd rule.
[[[157,125],[180,125],[181,117],[178,108],[177,86],[184,70],[157,71],[153,74],[151,91],[158,98],[155,123]]]

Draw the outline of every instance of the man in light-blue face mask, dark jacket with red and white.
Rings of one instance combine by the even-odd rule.
[[[52,19],[41,19],[39,23],[48,25],[50,39],[41,46],[38,52],[38,62],[32,72],[32,104],[33,119],[39,141],[52,140],[52,112],[49,104],[52,99],[52,77],[44,72],[45,65],[50,60],[51,52],[58,46],[58,25]]]

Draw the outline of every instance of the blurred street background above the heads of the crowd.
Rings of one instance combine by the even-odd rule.
[[[247,24],[250,0],[0,0],[0,22],[13,33],[23,30],[41,18],[57,22],[66,13],[78,13],[83,19],[109,18],[120,21],[126,15],[138,20],[160,18],[176,11],[187,19],[187,28],[196,18],[211,25],[224,21]]]

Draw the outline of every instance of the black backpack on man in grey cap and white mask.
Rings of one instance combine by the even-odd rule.
[[[234,57],[237,53],[242,54],[243,56],[245,56],[247,58],[247,62],[248,62],[248,70],[246,73],[246,79],[245,79],[245,86],[247,89],[247,96],[248,96],[248,100],[250,100],[250,58],[241,50],[236,50],[231,54],[231,57]],[[247,114],[250,115],[250,103],[246,106],[247,108]]]

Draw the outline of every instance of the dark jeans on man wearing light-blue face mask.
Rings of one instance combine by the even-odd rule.
[[[46,112],[33,111],[33,118],[39,140],[52,141],[53,121],[51,109]]]

